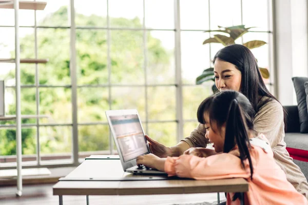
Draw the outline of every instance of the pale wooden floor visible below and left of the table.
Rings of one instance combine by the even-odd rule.
[[[16,187],[0,187],[1,205],[45,205],[59,204],[59,196],[52,195],[51,185],[28,185],[23,187],[23,195],[16,197]],[[224,194],[220,194],[224,199]],[[140,196],[90,196],[90,205],[96,204],[119,204],[134,205],[145,203],[147,205],[161,204],[187,204],[217,201],[216,193],[209,194],[175,194],[175,195],[140,195]],[[64,205],[86,204],[86,196],[63,196]]]

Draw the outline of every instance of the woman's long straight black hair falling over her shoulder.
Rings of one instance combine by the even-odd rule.
[[[277,98],[267,90],[257,60],[247,47],[240,44],[226,46],[216,53],[213,60],[214,63],[217,58],[235,65],[236,68],[241,71],[242,79],[240,91],[249,99],[256,113],[263,105],[268,103],[268,101],[273,99],[277,100]],[[259,97],[263,96],[268,98],[262,100],[262,103],[259,104]],[[283,115],[284,128],[286,129],[286,110],[284,108]]]

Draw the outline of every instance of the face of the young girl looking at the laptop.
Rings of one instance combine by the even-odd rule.
[[[215,152],[223,152],[224,139],[225,139],[225,131],[226,127],[223,125],[221,130],[218,130],[216,123],[212,122],[212,125],[209,124],[209,116],[208,113],[204,114],[205,119],[205,129],[206,134],[205,138],[209,139],[210,142],[213,142],[213,147],[215,148]]]

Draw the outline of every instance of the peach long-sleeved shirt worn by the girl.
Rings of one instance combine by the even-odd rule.
[[[169,176],[194,178],[200,180],[244,178],[248,181],[248,192],[244,194],[245,204],[308,204],[307,199],[296,191],[287,181],[285,173],[276,164],[273,151],[266,151],[252,145],[250,151],[254,173],[250,176],[248,160],[244,160],[245,169],[239,157],[222,153],[206,158],[192,155],[167,157],[165,172]],[[227,204],[240,204],[239,199],[232,201],[234,193],[227,194]]]

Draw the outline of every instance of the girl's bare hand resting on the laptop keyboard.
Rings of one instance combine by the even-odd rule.
[[[159,171],[165,170],[165,160],[164,158],[159,158],[153,154],[146,154],[137,157],[137,165],[144,165],[149,168],[157,169]]]

